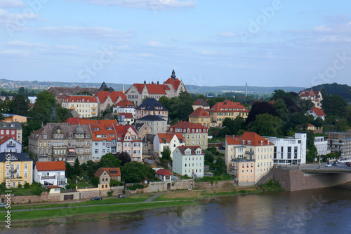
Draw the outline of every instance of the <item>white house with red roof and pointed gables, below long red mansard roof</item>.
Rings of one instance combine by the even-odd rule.
[[[161,158],[166,146],[170,149],[171,158],[173,158],[173,151],[178,146],[185,146],[184,136],[181,133],[157,133],[154,137],[154,154]]]

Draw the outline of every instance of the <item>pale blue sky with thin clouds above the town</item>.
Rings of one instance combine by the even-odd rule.
[[[351,85],[351,1],[0,0],[0,78]]]

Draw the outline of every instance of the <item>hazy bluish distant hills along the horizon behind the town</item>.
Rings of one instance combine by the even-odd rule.
[[[0,88],[5,90],[18,90],[20,87],[25,87],[29,89],[43,89],[46,90],[51,86],[55,87],[76,87],[81,88],[100,88],[102,82],[100,83],[79,83],[79,82],[58,82],[58,81],[11,81],[7,79],[0,79]],[[108,87],[114,88],[114,90],[121,91],[123,85],[121,83],[106,83]],[[197,85],[187,85],[185,84],[187,91],[204,94],[213,93],[220,94],[223,92],[245,92],[245,86],[197,86]],[[131,84],[124,84],[124,90],[131,87]],[[248,86],[247,90],[250,94],[270,94],[274,90],[284,90],[286,92],[299,92],[300,90],[305,90],[304,87],[260,87],[260,86]]]

